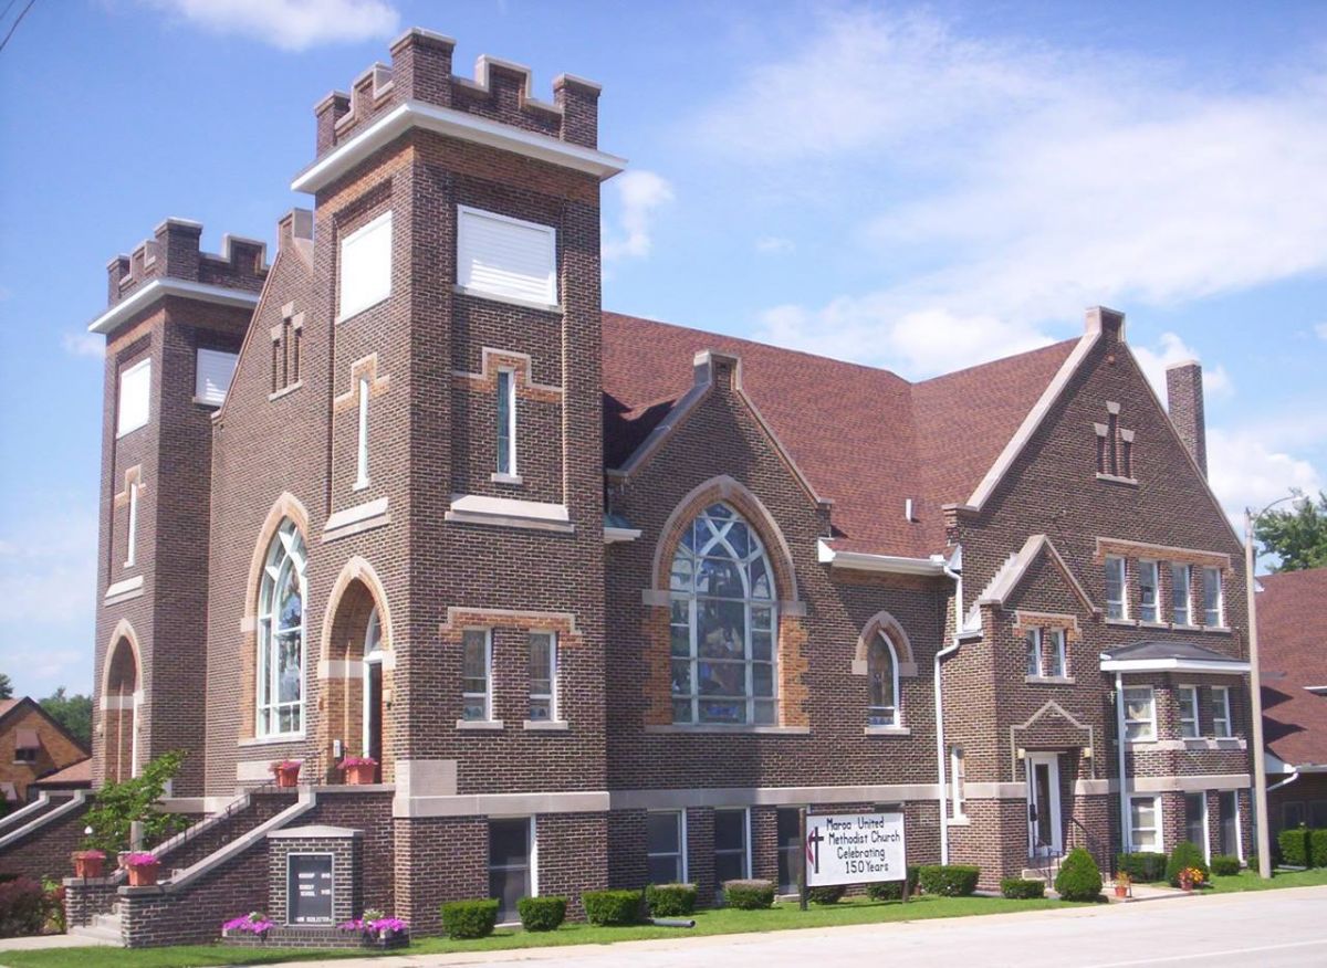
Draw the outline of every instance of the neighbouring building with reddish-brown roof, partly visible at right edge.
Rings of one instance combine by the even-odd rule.
[[[1258,585],[1270,826],[1327,827],[1327,568],[1269,574]]]

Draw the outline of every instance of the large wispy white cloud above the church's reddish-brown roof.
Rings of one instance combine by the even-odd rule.
[[[1046,341],[1089,305],[1139,314],[1327,269],[1324,90],[1322,65],[1234,91],[1117,52],[839,11],[694,127],[740,176],[759,168],[790,192],[909,186],[848,210],[877,288],[798,306],[804,325],[776,313],[799,347],[848,342],[902,369]],[[991,321],[1014,343],[985,338]],[[969,332],[983,346],[945,353]],[[908,355],[890,358],[900,342]]]

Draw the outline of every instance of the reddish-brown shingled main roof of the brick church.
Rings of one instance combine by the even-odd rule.
[[[621,467],[693,385],[702,350],[739,357],[742,386],[833,501],[835,548],[924,557],[941,505],[966,501],[1078,339],[910,383],[871,366],[604,313],[604,463]],[[916,524],[904,520],[913,500]]]

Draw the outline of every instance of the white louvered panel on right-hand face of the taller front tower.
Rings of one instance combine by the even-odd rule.
[[[456,282],[478,294],[557,305],[557,232],[549,225],[456,208]]]

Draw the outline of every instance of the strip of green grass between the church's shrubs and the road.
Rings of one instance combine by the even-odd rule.
[[[735,911],[722,908],[699,911],[694,928],[596,928],[589,924],[564,924],[557,931],[531,934],[499,930],[491,938],[475,941],[453,941],[446,938],[421,938],[394,955],[430,955],[462,951],[496,951],[500,948],[536,948],[563,944],[610,944],[612,941],[650,938],[685,938],[693,935],[731,935],[747,931],[786,931],[819,928],[836,924],[924,920],[929,918],[963,918],[1010,911],[1040,911],[1048,907],[1071,907],[1060,900],[1006,900],[1003,898],[917,898],[906,904],[845,899],[837,904],[817,906],[803,912],[796,904],[775,904],[770,911]],[[202,965],[251,965],[273,961],[321,961],[336,957],[364,957],[361,951],[309,951],[301,948],[232,948],[220,944],[195,944],[170,948],[52,948],[48,951],[0,951],[0,964],[11,968],[200,968]]]

